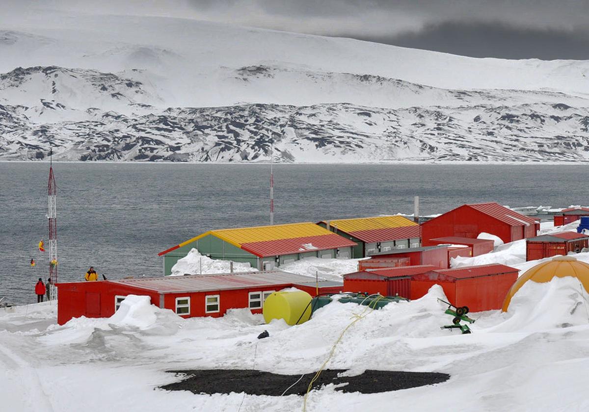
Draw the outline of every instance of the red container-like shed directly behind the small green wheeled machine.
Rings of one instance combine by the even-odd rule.
[[[468,306],[471,312],[500,309],[517,277],[516,268],[499,264],[433,270],[413,275],[411,299],[423,297],[439,284],[452,305]]]

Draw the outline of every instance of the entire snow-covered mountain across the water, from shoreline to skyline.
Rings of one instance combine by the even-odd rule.
[[[183,19],[0,27],[0,160],[589,160],[589,61]],[[2,30],[4,29],[4,30]]]

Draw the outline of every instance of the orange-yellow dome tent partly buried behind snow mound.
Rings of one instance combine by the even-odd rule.
[[[577,258],[572,256],[557,256],[548,262],[535,265],[521,275],[509,289],[501,311],[507,312],[511,298],[528,280],[545,283],[550,282],[554,277],[564,278],[567,276],[576,277],[585,288],[585,291],[589,293],[589,264],[578,261]]]

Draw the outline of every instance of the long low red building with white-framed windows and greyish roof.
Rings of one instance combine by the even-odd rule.
[[[274,291],[296,287],[316,295],[313,278],[282,271],[169,276],[96,282],[58,283],[57,321],[110,317],[127,295],[147,295],[151,304],[181,317],[223,316],[231,308],[262,313]],[[342,283],[319,281],[319,293],[339,293]]]

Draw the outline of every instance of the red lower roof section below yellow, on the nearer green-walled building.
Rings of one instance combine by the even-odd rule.
[[[293,239],[267,240],[241,244],[245,251],[259,257],[286,255],[355,246],[356,243],[335,233],[329,235],[298,237]]]

